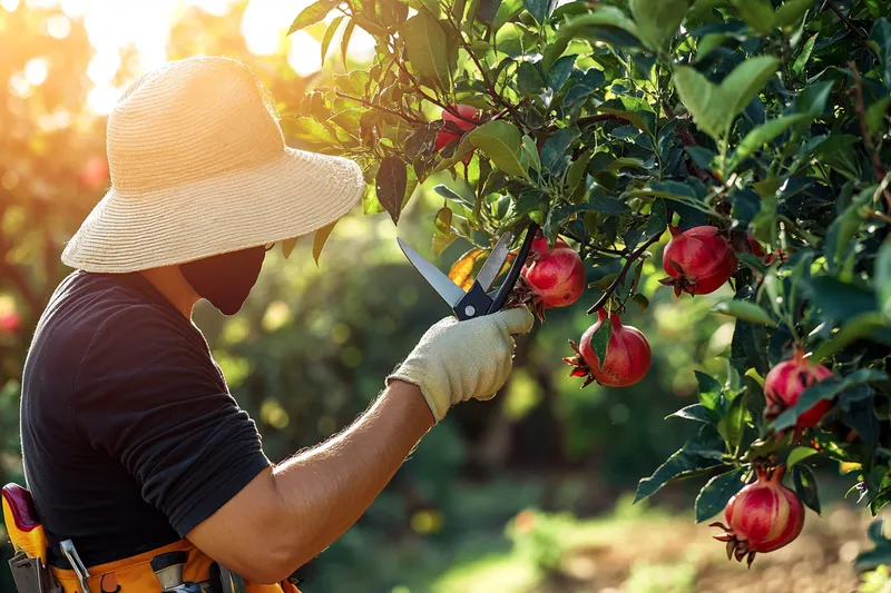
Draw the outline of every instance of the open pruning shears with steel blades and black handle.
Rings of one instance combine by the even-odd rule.
[[[414,269],[417,269],[427,283],[433,287],[433,290],[449,304],[452,308],[452,313],[458,317],[458,320],[463,322],[483,315],[491,315],[505,308],[508,296],[511,290],[513,290],[513,286],[520,277],[520,269],[526,263],[526,257],[529,255],[532,239],[535,239],[537,233],[538,225],[530,223],[529,227],[526,229],[526,237],[520,246],[520,250],[510,265],[505,281],[501,283],[498,289],[491,291],[490,288],[492,284],[510,255],[510,244],[513,243],[513,233],[508,231],[501,235],[498,243],[496,243],[492,248],[492,251],[489,254],[489,257],[486,259],[486,263],[483,263],[480,268],[477,278],[473,280],[473,286],[471,286],[468,291],[464,291],[460,286],[454,284],[451,278],[440,271],[437,266],[424,259],[421,254],[409,247],[402,239],[398,239],[398,241],[399,246],[402,248],[402,253],[409,258]]]

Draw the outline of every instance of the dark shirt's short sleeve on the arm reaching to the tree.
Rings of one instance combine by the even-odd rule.
[[[90,445],[184,537],[271,464],[204,338],[177,322],[148,305],[110,316],[80,362],[72,408]]]

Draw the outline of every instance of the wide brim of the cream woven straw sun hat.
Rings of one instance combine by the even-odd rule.
[[[112,187],[62,261],[123,274],[298,237],[350,211],[363,188],[355,162],[294,148],[251,169],[138,196]]]

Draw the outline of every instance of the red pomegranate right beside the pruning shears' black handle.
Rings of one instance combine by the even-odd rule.
[[[567,307],[584,291],[585,265],[578,253],[559,237],[554,249],[545,237],[535,238],[515,289],[519,300],[532,303],[542,318],[544,309]]]

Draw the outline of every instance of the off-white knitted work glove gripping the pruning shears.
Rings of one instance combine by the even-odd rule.
[[[495,397],[510,375],[512,336],[529,332],[533,322],[526,307],[466,322],[447,317],[427,330],[386,384],[417,385],[439,422],[459,402]]]

